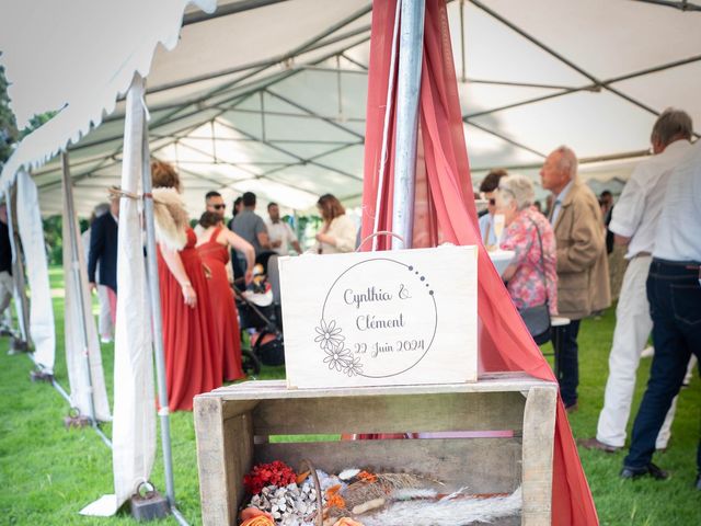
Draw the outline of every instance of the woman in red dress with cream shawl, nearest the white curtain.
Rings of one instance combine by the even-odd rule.
[[[218,339],[197,238],[180,198],[180,176],[161,161],[151,164],[151,175],[169,408],[192,411],[195,395],[221,386]]]

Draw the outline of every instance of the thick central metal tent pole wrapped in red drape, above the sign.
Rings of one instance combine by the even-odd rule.
[[[425,0],[402,0],[397,82],[397,149],[392,230],[404,239],[392,239],[392,249],[411,249],[414,228],[418,95],[424,47]]]

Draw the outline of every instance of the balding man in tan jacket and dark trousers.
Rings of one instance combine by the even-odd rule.
[[[555,149],[540,170],[542,186],[553,193],[550,222],[558,245],[558,311],[570,318],[561,331],[560,392],[568,412],[577,409],[579,322],[611,302],[601,208],[577,179],[577,157],[566,146]]]

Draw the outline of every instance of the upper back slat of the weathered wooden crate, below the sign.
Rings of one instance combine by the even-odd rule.
[[[256,435],[520,431],[525,402],[519,392],[266,400],[253,410],[253,430]]]

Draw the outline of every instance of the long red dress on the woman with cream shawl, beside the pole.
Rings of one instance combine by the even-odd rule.
[[[185,273],[197,294],[197,306],[185,305],[183,291],[158,250],[158,277],[161,288],[165,378],[171,411],[192,411],[195,395],[221,387],[221,364],[214,359],[218,339],[211,316],[209,288],[197,238],[187,229],[187,243],[180,251]]]

